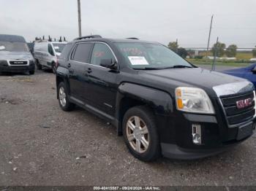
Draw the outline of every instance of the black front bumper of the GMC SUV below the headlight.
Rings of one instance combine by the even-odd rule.
[[[238,137],[240,127],[227,128],[225,121],[218,121],[217,117],[202,114],[181,114],[173,123],[175,136],[171,141],[162,141],[161,149],[164,157],[192,160],[211,155],[217,155],[225,150],[235,147],[248,139],[252,133],[246,134],[242,139]],[[218,122],[217,122],[218,121]],[[192,125],[199,124],[202,130],[202,143],[192,141]],[[247,124],[255,125],[255,119]],[[255,126],[254,126],[255,127]]]

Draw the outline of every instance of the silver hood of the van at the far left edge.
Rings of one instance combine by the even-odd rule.
[[[0,51],[0,60],[33,60],[31,52]]]

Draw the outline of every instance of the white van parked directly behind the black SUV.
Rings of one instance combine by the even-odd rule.
[[[34,59],[37,64],[37,69],[42,69],[42,66],[50,68],[53,73],[56,72],[57,56],[61,55],[67,42],[34,42]]]

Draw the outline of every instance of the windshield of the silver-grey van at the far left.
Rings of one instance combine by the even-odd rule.
[[[29,52],[25,42],[0,42],[0,51]]]

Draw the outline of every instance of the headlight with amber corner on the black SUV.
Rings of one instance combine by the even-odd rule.
[[[214,114],[214,107],[206,92],[197,87],[177,87],[176,106],[184,112]]]

